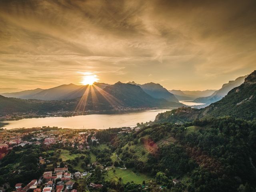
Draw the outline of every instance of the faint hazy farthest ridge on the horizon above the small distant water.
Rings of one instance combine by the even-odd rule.
[[[182,100],[194,100],[198,97],[210,96],[216,90],[204,90],[204,91],[182,91],[182,90],[169,90],[170,93],[182,101]]]

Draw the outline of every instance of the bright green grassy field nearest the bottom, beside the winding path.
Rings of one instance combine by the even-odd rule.
[[[116,170],[116,172],[113,172]],[[118,180],[118,178],[122,178],[122,183],[127,182],[134,182],[136,184],[142,184],[143,181],[147,182],[150,180],[150,177],[146,176],[145,174],[136,174],[131,170],[122,170],[119,168],[111,168],[105,175],[105,180]]]

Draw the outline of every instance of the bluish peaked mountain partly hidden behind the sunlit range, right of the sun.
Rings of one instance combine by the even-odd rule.
[[[140,86],[144,90],[144,92],[146,92],[153,98],[157,98],[157,99],[163,98],[170,102],[179,103],[178,99],[174,96],[174,94],[168,92],[168,90],[160,84],[156,84],[153,82],[146,83],[146,84],[136,84],[134,81],[128,82],[128,84],[134,84],[134,85]]]

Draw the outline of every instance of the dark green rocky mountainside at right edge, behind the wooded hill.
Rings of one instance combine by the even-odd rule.
[[[226,85],[227,86],[227,85]],[[225,87],[225,86],[224,86]],[[244,83],[233,88],[221,100],[203,109],[178,108],[156,116],[156,122],[188,122],[196,118],[232,116],[246,120],[256,119],[256,70]]]

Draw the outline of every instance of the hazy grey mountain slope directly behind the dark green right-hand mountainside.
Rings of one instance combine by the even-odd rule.
[[[219,90],[216,90],[212,95],[208,97],[199,97],[194,100],[194,102],[197,103],[205,103],[205,104],[211,104],[218,100],[221,100],[230,90],[232,90],[234,87],[240,86],[243,82],[246,76],[238,77],[234,81],[229,81],[226,84],[222,85],[222,88]]]

